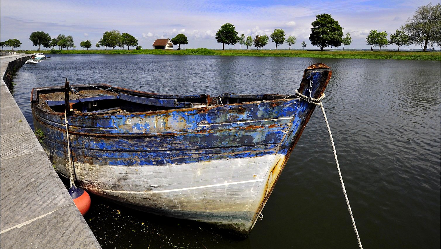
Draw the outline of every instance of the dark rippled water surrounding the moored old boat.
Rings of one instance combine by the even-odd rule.
[[[173,55],[52,55],[25,64],[14,97],[32,125],[33,87],[107,83],[164,94],[293,94],[303,70],[333,68],[324,106],[365,248],[440,248],[441,62]],[[356,248],[316,109],[250,236],[92,196],[86,222],[107,248]]]

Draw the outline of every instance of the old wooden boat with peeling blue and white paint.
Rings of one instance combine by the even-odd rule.
[[[332,71],[306,68],[299,92],[318,98]],[[311,83],[312,81],[312,83]],[[161,95],[78,85],[32,90],[35,129],[68,176],[67,116],[77,184],[142,211],[247,235],[315,105],[277,94]],[[67,104],[67,105],[66,105]],[[294,158],[295,159],[295,158]]]

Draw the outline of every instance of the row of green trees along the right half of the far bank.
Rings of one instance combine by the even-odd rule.
[[[332,18],[332,15],[316,15],[316,19],[311,25],[309,39],[312,45],[320,48],[320,51],[328,46],[340,47],[341,45],[344,50],[344,47],[352,42],[349,33],[343,37],[343,28]],[[429,45],[432,48],[434,45],[441,46],[441,4],[434,6],[430,3],[420,7],[415,11],[414,16],[401,26],[401,30],[396,30],[394,34],[390,35],[389,40],[387,35],[384,31],[370,30],[370,34],[366,37],[366,43],[371,45],[371,51],[374,46],[379,46],[381,51],[381,47],[386,47],[389,44],[398,45],[398,51],[400,51],[400,46],[411,44],[422,45],[422,51],[426,51]],[[222,25],[215,38],[217,42],[222,43],[222,50],[224,50],[225,44],[236,45],[239,43],[240,49],[242,49],[242,45],[246,45],[247,49],[252,45],[257,49],[263,49],[263,46],[269,43],[269,37],[265,34],[256,35],[254,39],[251,36],[245,39],[244,34],[239,36],[235,26],[231,23]],[[296,42],[294,35],[285,39],[285,31],[282,29],[274,30],[270,38],[276,44],[276,49],[278,45],[284,43],[287,43],[291,49],[291,45]],[[302,42],[302,47],[303,49],[306,47],[305,41]]]

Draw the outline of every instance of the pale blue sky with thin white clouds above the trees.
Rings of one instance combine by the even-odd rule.
[[[33,31],[44,31],[52,38],[71,35],[77,49],[81,41],[94,45],[105,31],[119,30],[138,39],[143,48],[152,48],[155,38],[173,38],[183,33],[188,45],[182,48],[222,48],[214,38],[224,23],[232,23],[239,34],[271,34],[282,28],[295,35],[292,48],[318,49],[309,34],[315,15],[330,14],[349,32],[352,44],[345,48],[368,49],[365,39],[370,30],[395,33],[414,11],[429,0],[209,0],[209,1],[101,1],[101,0],[0,0],[0,39],[15,38],[21,49],[35,49],[29,40]],[[264,49],[273,49],[270,41]],[[225,48],[239,48],[226,45]],[[280,45],[278,48],[288,48]],[[388,49],[396,49],[389,45]],[[411,45],[407,48],[419,48]],[[127,49],[127,48],[126,48]]]

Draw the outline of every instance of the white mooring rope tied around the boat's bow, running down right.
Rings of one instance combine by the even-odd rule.
[[[363,249],[363,245],[361,245],[360,236],[358,234],[357,226],[355,226],[355,219],[354,219],[354,215],[352,215],[352,210],[351,210],[351,205],[349,204],[348,194],[346,193],[346,188],[344,187],[343,177],[341,176],[340,165],[338,164],[337,152],[335,149],[334,140],[332,138],[331,128],[329,127],[328,119],[326,118],[325,108],[323,107],[323,103],[321,102],[321,100],[325,97],[325,94],[322,94],[320,98],[310,98],[306,95],[299,93],[297,90],[295,90],[295,96],[299,97],[300,99],[302,99],[304,101],[308,101],[310,103],[313,103],[314,105],[321,107],[321,113],[323,113],[323,117],[325,118],[326,127],[328,128],[328,133],[329,133],[329,139],[331,140],[331,145],[332,145],[333,152],[334,152],[334,158],[335,158],[335,162],[337,165],[338,176],[340,177],[341,189],[343,189],[344,199],[346,200],[346,206],[348,206],[349,215],[351,215],[352,227],[354,228],[355,235],[357,236],[359,247],[360,247],[360,249]]]

